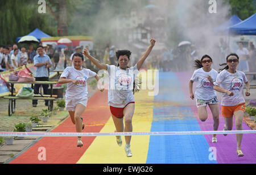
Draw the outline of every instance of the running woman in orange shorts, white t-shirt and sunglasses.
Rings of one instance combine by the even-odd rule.
[[[238,71],[237,65],[239,57],[237,54],[229,54],[226,57],[226,66],[216,78],[214,89],[222,92],[221,113],[224,117],[224,130],[232,130],[233,116],[236,121],[236,129],[242,130],[243,115],[245,113],[245,99],[243,98],[243,83],[246,86],[246,96],[250,96],[250,83],[245,73]],[[226,134],[224,134],[226,135]],[[237,138],[237,155],[243,156],[241,151],[243,134],[236,134]]]

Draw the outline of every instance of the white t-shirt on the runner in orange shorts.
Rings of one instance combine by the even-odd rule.
[[[242,71],[237,70],[236,73],[232,74],[224,69],[218,74],[214,84],[234,93],[234,96],[228,96],[226,93],[222,93],[222,106],[236,106],[245,103],[242,94],[244,82],[246,83],[248,80]]]

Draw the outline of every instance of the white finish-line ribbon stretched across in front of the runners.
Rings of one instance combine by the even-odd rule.
[[[36,132],[0,132],[0,136],[106,136],[106,135],[193,135],[193,134],[256,134],[256,130],[232,131],[174,131],[174,132],[138,132],[138,133],[36,133]]]

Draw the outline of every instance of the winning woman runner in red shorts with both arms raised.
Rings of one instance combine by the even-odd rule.
[[[108,104],[114,121],[116,132],[132,132],[132,118],[134,113],[133,83],[135,76],[139,73],[144,61],[155,45],[155,40],[150,40],[151,44],[146,52],[139,59],[134,67],[127,67],[130,61],[131,52],[129,50],[118,50],[116,56],[118,66],[106,65],[89,55],[88,50],[84,50],[84,55],[90,59],[98,68],[109,72]],[[123,126],[123,116],[125,116],[125,127]],[[133,156],[130,150],[131,136],[125,136],[125,152],[127,157]],[[121,136],[117,136],[117,144],[122,146]]]

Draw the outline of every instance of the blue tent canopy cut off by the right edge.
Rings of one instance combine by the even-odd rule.
[[[256,14],[231,26],[229,32],[235,35],[256,35]]]

